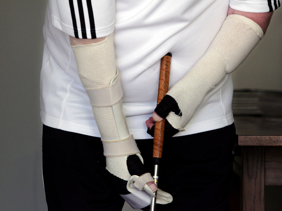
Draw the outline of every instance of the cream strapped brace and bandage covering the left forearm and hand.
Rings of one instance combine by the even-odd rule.
[[[72,48],[79,77],[89,96],[101,134],[111,182],[133,208],[146,207],[154,196],[147,183],[154,180],[143,168],[143,159],[133,136],[129,134],[122,111],[122,90],[115,68],[112,35],[99,43]],[[165,199],[167,203],[172,201],[171,198],[169,194],[169,198]]]

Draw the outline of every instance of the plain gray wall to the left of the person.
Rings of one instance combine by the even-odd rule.
[[[46,210],[39,76],[46,1],[1,0],[0,210]]]

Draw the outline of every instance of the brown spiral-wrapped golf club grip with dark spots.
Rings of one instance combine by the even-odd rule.
[[[168,85],[170,80],[170,61],[171,53],[167,53],[160,62],[160,77],[157,105],[163,99],[168,91]],[[163,152],[163,137],[164,137],[165,119],[161,122],[155,122],[154,131],[154,146],[153,146],[153,158],[161,158]]]

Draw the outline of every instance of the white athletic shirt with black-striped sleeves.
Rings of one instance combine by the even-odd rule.
[[[229,5],[241,11],[268,12],[279,7],[280,1],[49,0],[40,77],[43,124],[100,137],[90,101],[78,77],[69,35],[96,38],[114,32],[116,65],[129,131],[135,139],[151,138],[146,133],[145,121],[156,107],[160,58],[172,53],[172,87],[208,49]],[[185,131],[176,136],[232,124],[232,93],[232,77],[228,74],[207,94]]]

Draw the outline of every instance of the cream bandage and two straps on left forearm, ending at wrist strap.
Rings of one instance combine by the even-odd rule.
[[[122,109],[122,89],[116,70],[113,35],[99,43],[75,45],[78,75],[86,90],[101,134],[105,156],[139,153]]]

